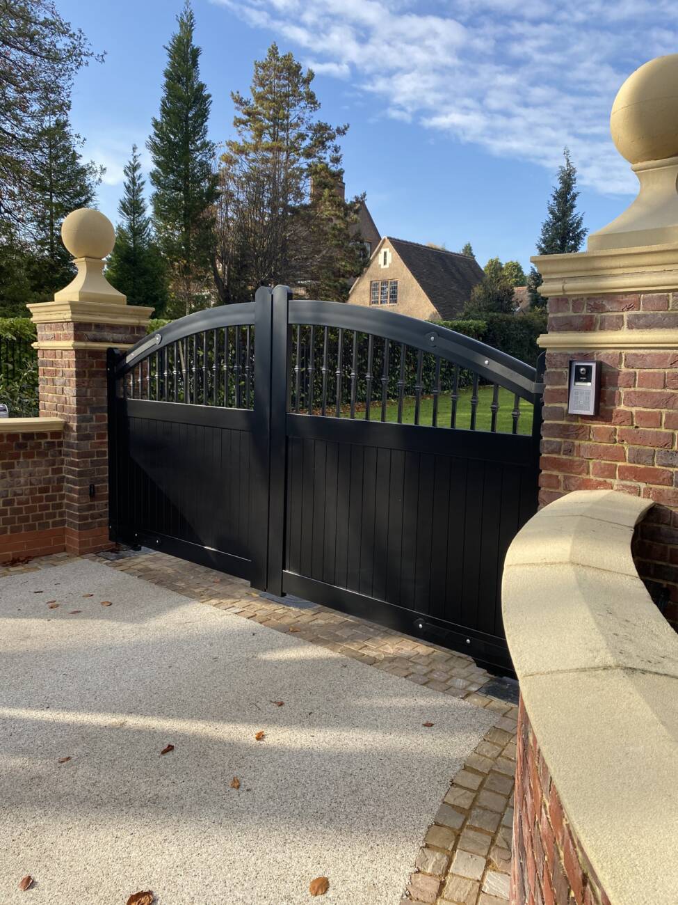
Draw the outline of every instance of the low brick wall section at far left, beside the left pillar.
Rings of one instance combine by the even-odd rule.
[[[0,433],[0,562],[64,544],[62,432]]]

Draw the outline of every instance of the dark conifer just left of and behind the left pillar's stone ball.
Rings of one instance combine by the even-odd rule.
[[[75,270],[61,243],[61,223],[71,211],[95,203],[96,187],[105,172],[103,167],[82,161],[84,142],[71,130],[68,109],[69,105],[64,108],[61,104],[55,111],[52,98],[44,100],[27,185],[26,232],[32,250],[28,270],[33,292],[39,297],[71,281]]]

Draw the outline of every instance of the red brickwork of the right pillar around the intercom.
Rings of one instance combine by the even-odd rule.
[[[678,292],[552,298],[549,333],[678,328]],[[571,358],[601,361],[600,411],[567,414]],[[678,623],[678,349],[546,357],[540,502],[611,488],[654,500],[637,531],[636,566],[664,614]]]

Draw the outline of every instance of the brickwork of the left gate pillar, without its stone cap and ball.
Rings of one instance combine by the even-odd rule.
[[[134,343],[143,327],[39,323],[38,342]],[[39,348],[40,414],[63,418],[66,549],[90,553],[108,541],[108,439],[105,348]],[[93,491],[93,493],[92,493]]]

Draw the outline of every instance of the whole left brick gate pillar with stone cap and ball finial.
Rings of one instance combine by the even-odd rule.
[[[127,306],[102,274],[115,233],[98,211],[65,219],[63,242],[78,274],[53,301],[30,305],[37,329],[41,417],[59,417],[63,431],[66,550],[91,553],[108,540],[106,350],[129,348],[146,334],[153,309]]]

